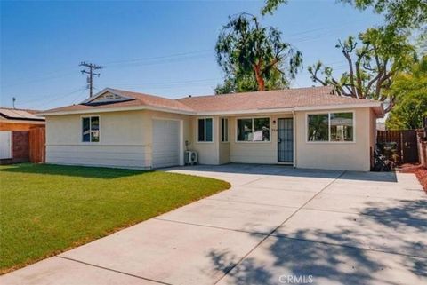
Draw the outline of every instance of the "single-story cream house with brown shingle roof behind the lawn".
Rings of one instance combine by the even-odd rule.
[[[370,170],[381,102],[330,87],[166,99],[104,89],[44,111],[46,162],[152,169],[184,163],[284,163]]]

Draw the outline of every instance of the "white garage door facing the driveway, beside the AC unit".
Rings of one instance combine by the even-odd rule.
[[[153,120],[153,168],[180,164],[180,122]]]

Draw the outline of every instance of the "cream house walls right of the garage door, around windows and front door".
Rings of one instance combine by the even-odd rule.
[[[295,167],[331,170],[370,170],[370,147],[375,146],[374,112],[366,108],[342,109],[340,111],[354,111],[355,114],[355,141],[321,142],[306,141],[306,115],[308,113],[326,112],[295,112]],[[238,163],[278,163],[278,118],[292,117],[291,113],[276,115],[254,115],[254,117],[270,117],[270,142],[237,142],[236,127],[238,118],[252,117],[251,115],[229,116],[230,143],[221,142],[221,116],[214,118],[214,142],[197,143],[197,118],[193,121],[193,148],[197,150],[200,163],[222,164]]]

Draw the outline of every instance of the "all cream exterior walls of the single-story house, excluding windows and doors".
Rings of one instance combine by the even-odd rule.
[[[298,168],[369,170],[369,147],[375,145],[375,114],[369,108],[355,111],[355,142],[307,142],[306,115],[316,112],[296,112],[295,166]],[[321,111],[319,111],[321,112]],[[291,113],[254,115],[270,117],[270,142],[237,142],[237,119],[250,115],[229,116],[229,143],[221,142],[221,116],[213,118],[213,142],[197,142],[197,116],[176,115],[157,111],[123,111],[93,113],[100,115],[100,142],[81,142],[82,115],[56,115],[46,118],[46,162],[60,164],[96,165],[130,168],[152,166],[153,118],[180,120],[182,153],[184,142],[196,150],[201,164],[228,162],[278,162],[278,118],[292,117]],[[273,123],[275,122],[275,123]]]

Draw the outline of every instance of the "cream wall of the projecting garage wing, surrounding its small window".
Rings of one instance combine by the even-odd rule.
[[[84,143],[82,115],[46,118],[46,162],[149,169],[152,166],[152,119],[181,120],[183,140],[190,139],[190,119],[155,111],[93,113],[100,116],[100,142]],[[183,142],[182,142],[183,147]]]

